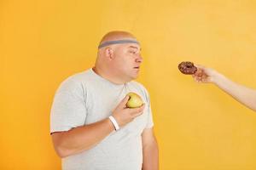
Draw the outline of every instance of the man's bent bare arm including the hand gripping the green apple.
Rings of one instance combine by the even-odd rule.
[[[113,117],[119,127],[125,126],[143,113],[144,105],[137,109],[125,108],[129,97],[126,96],[114,109]],[[100,122],[81,127],[74,127],[67,132],[52,133],[55,151],[60,157],[72,156],[84,150],[89,150],[114,131],[113,123],[108,118]]]

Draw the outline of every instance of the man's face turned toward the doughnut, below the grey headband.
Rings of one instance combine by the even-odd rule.
[[[128,80],[137,78],[143,61],[140,45],[137,43],[119,44],[113,54],[118,74]]]

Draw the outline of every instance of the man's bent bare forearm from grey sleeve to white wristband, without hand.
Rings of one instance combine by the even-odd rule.
[[[51,137],[57,155],[66,157],[90,149],[113,130],[113,124],[107,118],[90,125],[74,127],[67,132],[52,133]]]

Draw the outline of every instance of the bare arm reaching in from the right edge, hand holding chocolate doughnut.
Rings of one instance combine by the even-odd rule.
[[[213,69],[206,68],[202,65],[196,65],[196,67],[198,71],[193,75],[196,82],[212,82],[241,104],[256,111],[256,90],[233,82]]]

